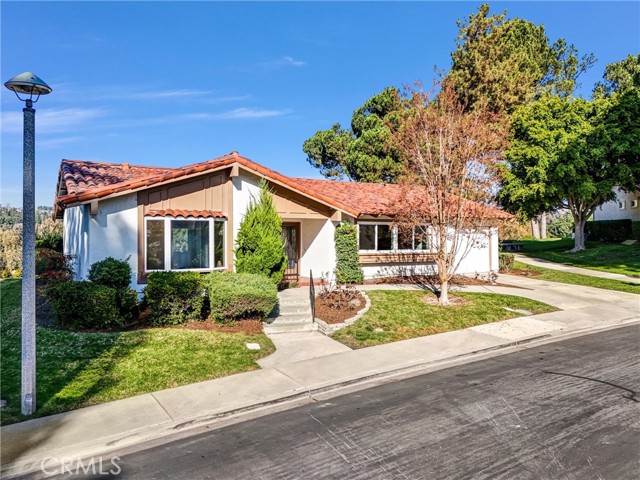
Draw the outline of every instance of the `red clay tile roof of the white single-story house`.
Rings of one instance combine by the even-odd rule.
[[[241,165],[247,170],[354,217],[389,214],[392,200],[401,191],[401,187],[392,184],[287,177],[242,157],[237,152],[180,168],[63,160],[60,166],[54,210],[58,214],[61,209],[74,204],[120,192],[137,191],[187,175],[217,170],[234,164]],[[508,213],[493,208],[489,216],[510,217]]]

